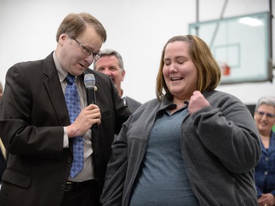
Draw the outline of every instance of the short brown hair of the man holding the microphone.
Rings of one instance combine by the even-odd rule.
[[[107,34],[103,25],[94,16],[85,12],[79,14],[71,13],[63,19],[56,32],[56,42],[58,42],[61,34],[67,34],[70,38],[77,38],[84,32],[88,24],[93,25],[104,43],[107,39]]]

